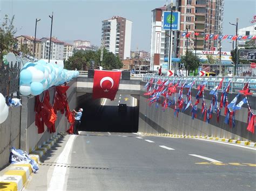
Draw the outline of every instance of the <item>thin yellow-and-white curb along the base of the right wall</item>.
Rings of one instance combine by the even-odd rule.
[[[224,142],[224,143],[233,143],[238,145],[250,146],[255,147],[256,143],[242,141],[242,140],[235,140],[235,139],[226,139],[226,138],[218,138],[218,137],[207,137],[207,136],[187,136],[187,135],[172,135],[167,133],[142,133],[138,132],[139,135],[144,136],[158,136],[158,137],[172,137],[172,138],[193,138],[193,139],[206,139],[206,140],[215,140],[217,142]]]

